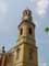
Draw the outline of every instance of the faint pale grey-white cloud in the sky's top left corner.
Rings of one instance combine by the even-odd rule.
[[[0,16],[5,15],[8,10],[8,4],[5,0],[0,0]]]

